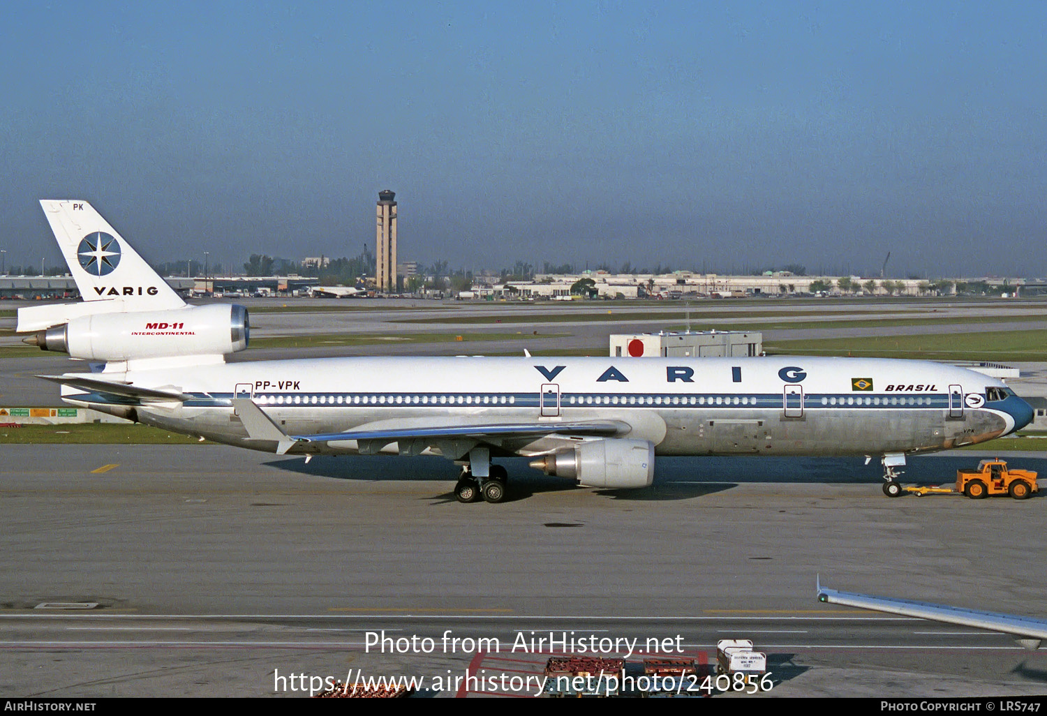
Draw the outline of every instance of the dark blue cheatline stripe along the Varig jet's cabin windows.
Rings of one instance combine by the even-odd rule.
[[[194,393],[185,402],[190,407],[228,405],[231,393]],[[70,396],[71,397],[71,396]],[[93,397],[101,397],[92,394]],[[259,393],[254,400],[260,405],[276,407],[538,407],[537,393]],[[297,402],[295,402],[297,401]],[[485,402],[486,401],[486,402]],[[115,402],[99,400],[92,402]],[[547,399],[547,406],[555,405]],[[627,407],[627,408],[783,408],[783,396],[773,394],[680,394],[680,393],[563,393],[561,408]],[[799,407],[799,405],[790,407]],[[930,395],[854,395],[807,394],[803,408],[847,409],[949,409],[948,394]],[[959,406],[954,406],[959,407]],[[971,408],[964,408],[971,409]]]

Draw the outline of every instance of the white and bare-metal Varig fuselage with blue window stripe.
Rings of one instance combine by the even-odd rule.
[[[931,451],[1015,429],[1004,384],[926,361],[862,358],[330,358],[215,363],[112,376],[193,399],[136,408],[141,422],[247,440],[229,400],[250,397],[289,434],[367,426],[618,420],[658,454],[884,454]],[[63,388],[70,402],[84,390]],[[1007,394],[1008,401],[1024,402]],[[105,402],[105,401],[103,401]],[[106,409],[105,405],[102,406]],[[118,405],[111,406],[119,411]],[[554,441],[555,443],[555,441]],[[550,441],[502,446],[535,454]],[[342,441],[292,451],[355,452]],[[382,451],[397,452],[393,443]]]

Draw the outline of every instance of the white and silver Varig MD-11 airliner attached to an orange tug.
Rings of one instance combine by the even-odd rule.
[[[455,495],[497,502],[524,455],[596,488],[651,484],[656,455],[866,455],[900,494],[913,453],[1013,432],[1032,409],[953,365],[864,358],[322,358],[226,363],[247,311],[187,306],[95,211],[41,202],[84,300],[18,331],[89,370],[62,399],[220,443],[300,454],[442,455]]]

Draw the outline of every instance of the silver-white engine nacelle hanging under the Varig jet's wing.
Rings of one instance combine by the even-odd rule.
[[[654,443],[648,440],[593,440],[573,450],[531,463],[547,475],[575,477],[585,487],[632,489],[654,479]]]

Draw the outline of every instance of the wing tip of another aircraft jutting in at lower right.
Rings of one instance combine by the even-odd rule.
[[[1047,621],[1029,617],[964,609],[962,607],[934,604],[931,602],[915,602],[909,599],[873,597],[852,591],[839,591],[823,587],[821,583],[818,584],[818,601],[825,602],[826,604],[842,604],[843,606],[851,606],[859,609],[884,611],[889,614],[916,617],[917,619],[929,619],[946,624],[959,624],[961,626],[987,629],[989,631],[1000,631],[1013,635],[1016,641],[1026,649],[1037,649],[1040,646],[1040,641],[1047,639]]]

